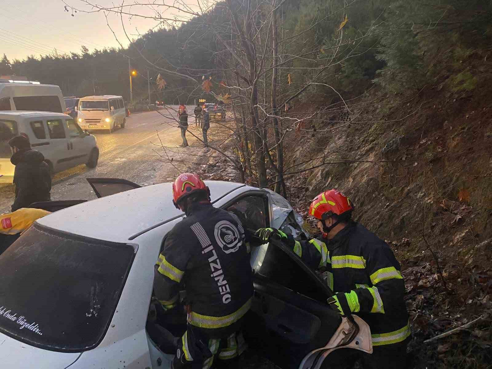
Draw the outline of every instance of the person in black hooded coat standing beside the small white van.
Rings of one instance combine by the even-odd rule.
[[[34,202],[51,200],[50,167],[44,161],[44,155],[31,149],[31,143],[25,136],[15,136],[8,142],[12,150],[10,162],[15,165],[15,200],[12,212],[28,208]]]

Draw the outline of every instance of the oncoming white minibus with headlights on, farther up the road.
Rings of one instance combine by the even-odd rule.
[[[78,123],[82,129],[104,129],[111,133],[124,128],[126,108],[122,96],[86,96],[79,100]]]

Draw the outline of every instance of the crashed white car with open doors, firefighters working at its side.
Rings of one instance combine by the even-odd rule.
[[[205,182],[215,207],[237,214],[248,231],[290,221],[274,216],[264,189]],[[161,344],[170,327],[155,321],[152,294],[163,239],[184,216],[172,203],[172,184],[90,183],[98,197],[108,196],[38,219],[0,255],[2,368],[170,368],[174,347]],[[296,221],[289,226],[303,231]],[[250,348],[283,369],[320,368],[338,348],[372,352],[368,325],[329,307],[332,291],[300,258],[254,240],[255,293],[244,332]],[[178,337],[186,326],[173,329]]]

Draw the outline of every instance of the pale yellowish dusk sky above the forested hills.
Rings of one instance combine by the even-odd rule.
[[[75,8],[91,10],[87,4],[80,0],[66,0]],[[161,0],[160,3],[177,3],[173,0]],[[111,1],[98,0],[97,4],[110,5]],[[119,3],[115,1],[114,3]],[[129,3],[129,2],[128,2]],[[195,1],[188,1],[188,6],[197,9]],[[154,7],[159,9],[159,7]],[[127,8],[129,10],[129,8]],[[162,7],[160,7],[162,9]],[[150,7],[133,7],[132,12],[152,16],[154,10]],[[116,47],[120,45],[112,31],[106,24],[106,18],[102,12],[87,14],[74,13],[64,10],[62,0],[2,0],[0,2],[0,56],[7,55],[10,61],[24,59],[29,55],[38,57],[40,54],[49,54],[55,48],[59,53],[80,53],[82,45],[90,51],[104,47]],[[167,9],[165,16],[189,17],[176,9]],[[108,22],[116,36],[123,44],[128,45],[121,18],[119,15],[108,15]],[[130,38],[137,38],[149,29],[157,26],[157,22],[151,19],[138,17],[123,17],[124,27]]]

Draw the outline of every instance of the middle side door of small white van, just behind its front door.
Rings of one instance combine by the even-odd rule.
[[[65,123],[62,118],[48,118],[46,126],[50,137],[50,156],[53,158],[53,169],[56,172],[72,167],[71,156],[72,149],[70,142],[67,139],[67,134],[64,128]]]

